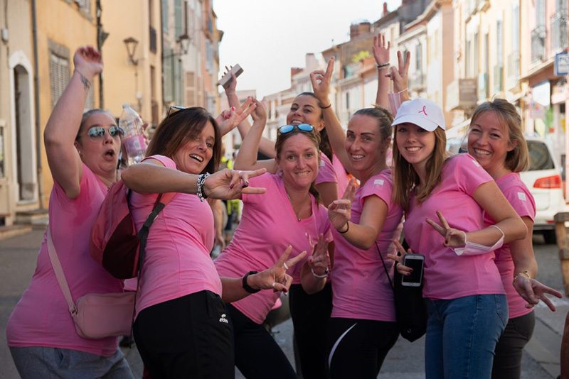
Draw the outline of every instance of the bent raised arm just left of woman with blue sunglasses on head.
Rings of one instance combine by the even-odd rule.
[[[266,168],[268,172],[277,172],[277,165],[274,159],[257,160],[257,152],[259,143],[262,138],[262,131],[267,124],[267,110],[265,106],[257,99],[253,100],[257,107],[251,114],[253,125],[249,129],[249,133],[243,139],[239,153],[235,157],[234,167],[236,170],[257,170],[258,168]]]

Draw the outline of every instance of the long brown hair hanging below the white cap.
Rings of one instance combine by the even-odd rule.
[[[440,183],[442,167],[447,160],[447,134],[442,128],[436,128],[432,133],[435,133],[435,148],[427,160],[425,183],[415,196],[418,204],[424,202],[432,190]],[[419,175],[415,172],[413,165],[408,163],[399,152],[397,147],[397,126],[395,126],[395,134],[393,136],[393,183],[393,201],[407,210],[410,191],[413,190],[413,187],[419,185]]]

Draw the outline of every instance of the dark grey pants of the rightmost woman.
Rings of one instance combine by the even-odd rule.
[[[492,378],[519,379],[521,377],[521,358],[523,348],[533,335],[536,326],[536,314],[531,312],[523,316],[509,319],[494,353]]]

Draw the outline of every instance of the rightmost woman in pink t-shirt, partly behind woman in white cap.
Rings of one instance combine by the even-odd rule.
[[[494,252],[508,299],[509,320],[496,344],[492,378],[520,378],[523,347],[531,339],[536,324],[533,305],[543,300],[555,311],[545,294],[557,297],[562,294],[533,279],[538,273],[531,242],[536,204],[519,175],[528,168],[529,159],[516,107],[504,99],[480,104],[470,122],[468,152],[496,181],[528,228],[526,238],[506,243]],[[485,212],[484,216],[486,226],[494,224],[489,214]]]

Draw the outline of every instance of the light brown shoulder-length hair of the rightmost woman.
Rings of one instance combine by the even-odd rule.
[[[479,116],[490,111],[495,112],[502,125],[507,126],[510,137],[509,143],[514,146],[514,150],[506,153],[504,166],[513,172],[526,170],[529,166],[528,143],[526,138],[523,138],[521,116],[513,104],[505,99],[485,101],[474,111],[470,126],[472,127]]]

